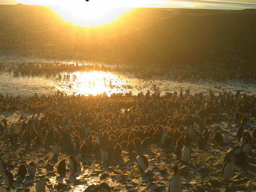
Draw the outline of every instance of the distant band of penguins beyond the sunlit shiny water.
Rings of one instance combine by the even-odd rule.
[[[212,78],[216,81],[226,79],[245,79],[255,80],[256,70],[248,68],[237,68],[228,70],[225,66],[217,64],[202,64],[202,65],[188,65],[187,70],[166,70],[166,66],[159,67],[159,65],[151,65],[148,67],[133,66],[133,67],[110,67],[105,65],[93,64],[67,64],[54,62],[54,64],[33,64],[33,63],[17,63],[12,64],[12,73],[14,76],[19,75],[56,75],[61,72],[75,72],[75,71],[115,71],[121,73],[133,73],[140,78],[151,78],[152,76],[167,75],[174,80],[188,80],[188,79],[207,79]],[[0,64],[0,70],[4,70],[4,65]],[[169,68],[169,67],[168,67]],[[179,68],[178,68],[179,69]],[[11,74],[11,68],[9,69]]]

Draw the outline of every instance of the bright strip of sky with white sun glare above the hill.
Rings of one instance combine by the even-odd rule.
[[[241,10],[256,0],[0,0],[0,4],[48,5],[64,20],[82,26],[109,23],[136,7]]]

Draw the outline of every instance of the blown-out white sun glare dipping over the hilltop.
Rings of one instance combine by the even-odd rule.
[[[195,7],[196,3],[170,0],[17,0],[31,5],[47,5],[61,18],[85,27],[113,22],[132,8]]]

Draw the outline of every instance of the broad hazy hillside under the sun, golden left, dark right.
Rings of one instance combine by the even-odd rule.
[[[256,61],[254,9],[135,8],[107,25],[82,27],[50,7],[0,5],[0,20],[2,54],[131,64]]]

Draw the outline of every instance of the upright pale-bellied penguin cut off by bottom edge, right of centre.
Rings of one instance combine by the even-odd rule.
[[[173,176],[169,182],[168,192],[181,192],[182,191],[182,179],[178,172],[177,164],[173,167]]]

